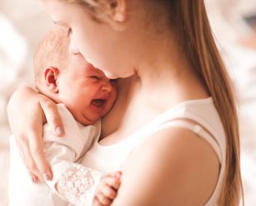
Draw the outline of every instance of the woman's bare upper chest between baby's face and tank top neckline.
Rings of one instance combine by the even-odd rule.
[[[116,105],[102,120],[100,144],[118,143],[142,129],[160,114],[157,107],[135,88],[123,88]]]

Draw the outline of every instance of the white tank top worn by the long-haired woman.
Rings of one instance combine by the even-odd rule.
[[[192,124],[186,119],[190,119],[196,124]],[[202,100],[183,101],[150,121],[149,124],[145,124],[129,137],[110,146],[102,146],[98,143],[99,130],[92,148],[86,153],[81,163],[106,173],[120,170],[135,147],[152,137],[152,133],[170,127],[184,128],[196,133],[215,150],[220,161],[220,173],[216,188],[205,205],[216,205],[225,173],[225,131],[211,97]]]

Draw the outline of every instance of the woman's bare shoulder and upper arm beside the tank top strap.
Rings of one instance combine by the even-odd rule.
[[[202,138],[172,128],[132,152],[122,172],[114,206],[203,205],[215,188],[219,162]]]

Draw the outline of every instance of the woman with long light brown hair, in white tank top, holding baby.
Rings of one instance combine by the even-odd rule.
[[[112,204],[239,205],[235,98],[204,2],[43,2],[69,30],[73,55],[121,78],[116,105],[84,160],[101,171],[121,167]],[[40,138],[44,115],[61,135],[55,104],[36,91],[20,89],[8,105],[21,157],[36,176],[51,175]]]

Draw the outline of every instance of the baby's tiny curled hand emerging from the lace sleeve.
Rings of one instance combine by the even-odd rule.
[[[109,175],[103,176],[95,196],[93,198],[93,206],[108,206],[111,205],[116,198],[117,190],[121,184],[121,171],[116,171]]]

